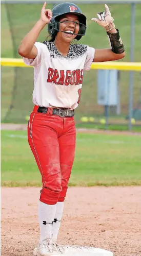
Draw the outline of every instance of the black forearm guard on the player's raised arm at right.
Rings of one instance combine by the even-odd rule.
[[[111,50],[113,51],[113,53],[122,54],[125,52],[125,48],[124,48],[122,39],[119,36],[119,30],[118,29],[116,29],[116,30],[117,30],[116,33],[107,32],[107,35],[109,37],[110,44],[111,44]]]

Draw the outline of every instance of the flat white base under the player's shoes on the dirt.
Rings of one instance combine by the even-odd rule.
[[[94,247],[83,247],[83,246],[69,246],[65,245],[65,252],[59,255],[62,256],[113,256],[113,252],[104,249],[94,248]],[[34,249],[33,254],[36,254],[37,249]],[[53,254],[53,256],[58,256],[58,254]]]

